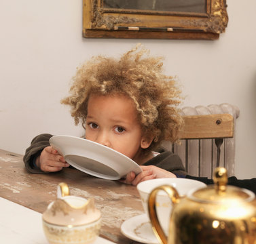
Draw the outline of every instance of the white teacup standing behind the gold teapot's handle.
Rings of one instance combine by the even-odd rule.
[[[149,211],[148,211],[148,199],[150,192],[157,188],[158,186],[173,186],[176,188],[177,192],[179,193],[180,197],[185,197],[190,190],[198,189],[206,187],[206,184],[191,179],[185,178],[160,178],[160,179],[153,179],[153,180],[146,180],[141,182],[137,185],[137,189],[139,190],[139,194],[141,196],[141,200],[143,203],[143,208],[147,213],[149,218]],[[158,219],[162,229],[164,230],[165,234],[168,233],[168,226],[170,220],[170,212],[172,210],[172,203],[167,196],[166,192],[160,190],[156,197],[156,213],[158,215]]]

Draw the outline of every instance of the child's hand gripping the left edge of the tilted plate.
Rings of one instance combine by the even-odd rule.
[[[67,163],[64,157],[62,157],[52,146],[43,148],[41,155],[37,157],[35,164],[41,171],[45,172],[60,171],[62,167],[69,167],[69,163]]]

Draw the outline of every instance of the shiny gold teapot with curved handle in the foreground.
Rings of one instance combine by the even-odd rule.
[[[215,169],[215,184],[192,190],[186,197],[172,186],[159,186],[149,195],[149,217],[158,241],[164,244],[256,244],[255,195],[227,186],[227,170]],[[172,201],[168,237],[156,212],[156,195],[167,192]]]

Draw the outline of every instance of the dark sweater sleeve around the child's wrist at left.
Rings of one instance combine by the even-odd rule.
[[[46,172],[41,171],[41,169],[36,168],[33,165],[33,160],[35,157],[39,156],[41,154],[41,151],[46,146],[50,146],[49,139],[52,137],[51,134],[41,134],[39,136],[36,136],[33,138],[31,142],[31,146],[29,148],[26,148],[25,155],[23,157],[23,161],[25,164],[26,169],[30,173],[34,174],[45,174]]]

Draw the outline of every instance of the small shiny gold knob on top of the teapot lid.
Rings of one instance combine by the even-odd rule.
[[[225,192],[227,186],[227,169],[224,167],[217,167],[213,174],[213,182],[218,194]]]

